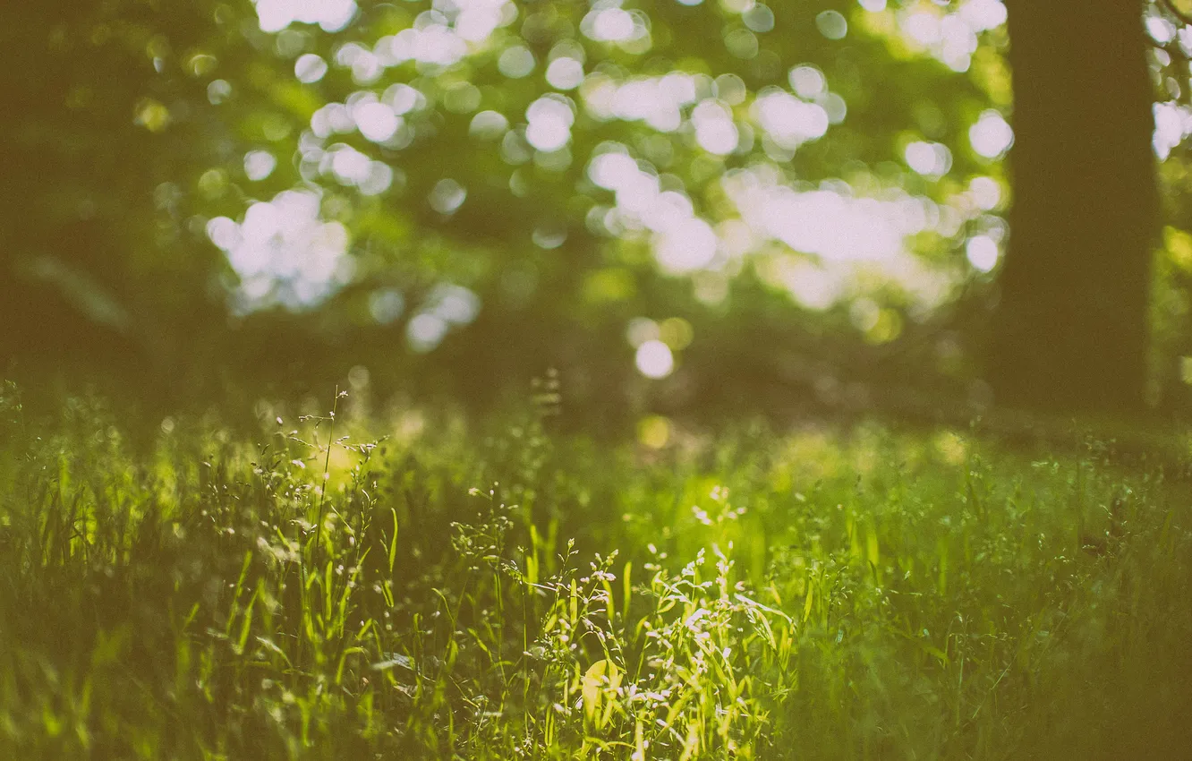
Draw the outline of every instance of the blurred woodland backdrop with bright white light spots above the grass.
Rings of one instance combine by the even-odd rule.
[[[484,407],[554,366],[588,419],[1173,413],[1192,31],[1068,5],[23,7],[0,355],[163,404],[358,366]]]

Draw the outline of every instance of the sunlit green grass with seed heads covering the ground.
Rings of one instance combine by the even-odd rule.
[[[10,386],[0,757],[1188,757],[1186,472],[873,426],[608,448],[542,398],[138,450]]]

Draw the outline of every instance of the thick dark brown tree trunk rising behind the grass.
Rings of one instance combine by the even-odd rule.
[[[989,378],[999,404],[1143,407],[1157,231],[1138,0],[1011,0],[1013,206]]]

